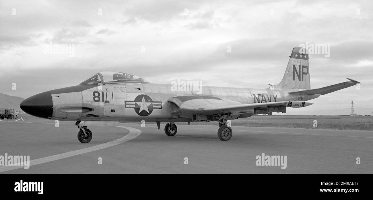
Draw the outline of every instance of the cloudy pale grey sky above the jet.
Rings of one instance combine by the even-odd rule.
[[[0,92],[27,98],[101,71],[267,88],[281,81],[292,48],[308,42],[330,44],[330,57],[309,56],[311,88],[347,77],[361,86],[304,109],[348,108],[351,100],[373,108],[372,13],[371,0],[1,0]],[[46,53],[50,42],[73,44],[74,56]]]

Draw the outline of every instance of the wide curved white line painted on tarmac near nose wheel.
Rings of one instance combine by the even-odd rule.
[[[43,164],[43,163],[51,162],[51,161],[57,161],[59,159],[69,158],[71,156],[76,156],[76,155],[80,155],[80,154],[83,154],[83,153],[89,153],[89,152],[93,152],[93,151],[96,151],[96,150],[105,149],[107,147],[119,145],[123,142],[127,142],[129,140],[132,140],[132,139],[134,139],[135,137],[137,137],[141,134],[141,130],[138,130],[137,128],[131,128],[131,127],[126,127],[126,126],[118,126],[118,127],[128,129],[129,133],[127,135],[119,138],[119,139],[112,140],[110,142],[106,142],[106,143],[103,143],[101,145],[91,146],[91,147],[84,148],[84,149],[79,149],[79,150],[75,150],[75,151],[70,151],[70,152],[66,152],[66,153],[61,153],[61,154],[57,154],[57,155],[53,155],[53,156],[48,156],[48,157],[44,157],[44,158],[31,160],[31,161],[29,161],[29,166],[39,165],[39,164]],[[19,165],[19,164],[17,164],[17,165]],[[9,171],[9,170],[13,170],[13,169],[19,169],[19,168],[23,168],[23,167],[24,166],[0,166],[0,172]]]

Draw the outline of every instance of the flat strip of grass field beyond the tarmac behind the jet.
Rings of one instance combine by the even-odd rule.
[[[25,121],[54,123],[53,120],[33,117],[31,115],[18,115]],[[317,127],[314,127],[317,120]],[[62,122],[71,123],[74,122]],[[139,122],[140,123],[140,120]],[[155,124],[155,123],[151,123]],[[166,124],[166,123],[162,123]],[[186,124],[186,123],[176,123]],[[192,122],[191,124],[203,124],[217,126],[216,121]],[[315,124],[316,125],[316,124]],[[254,115],[249,118],[232,120],[232,126],[254,127],[286,127],[286,128],[321,128],[321,129],[345,129],[345,130],[373,130],[373,117],[370,116],[291,116],[291,115]]]

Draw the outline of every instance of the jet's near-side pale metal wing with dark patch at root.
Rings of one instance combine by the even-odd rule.
[[[212,96],[175,96],[168,100],[176,104],[171,114],[193,113],[202,115],[254,112],[255,108],[292,107],[301,108],[312,103],[304,101],[280,101],[255,104],[240,104],[236,101],[220,99]]]

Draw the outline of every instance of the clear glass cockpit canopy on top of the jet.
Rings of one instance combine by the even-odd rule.
[[[94,74],[80,85],[98,85],[98,83],[105,85],[113,83],[148,83],[148,81],[123,72],[100,72]]]

